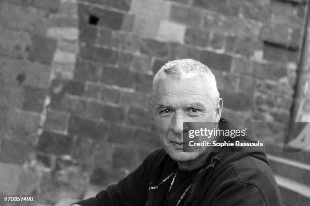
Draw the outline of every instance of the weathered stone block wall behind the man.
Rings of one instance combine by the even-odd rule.
[[[151,80],[170,60],[212,69],[224,117],[288,121],[304,8],[301,0],[2,1],[0,194],[52,205],[134,170],[160,147]]]

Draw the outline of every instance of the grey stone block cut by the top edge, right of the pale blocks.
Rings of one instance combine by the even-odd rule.
[[[193,0],[192,5],[198,8],[204,8],[210,11],[219,12],[227,16],[238,16],[240,3],[232,2],[229,0],[221,1],[220,3],[217,0]]]

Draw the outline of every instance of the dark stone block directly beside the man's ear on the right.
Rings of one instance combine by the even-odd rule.
[[[223,99],[224,108],[237,111],[248,111],[253,106],[253,94],[237,93],[227,90],[219,90],[220,97]]]

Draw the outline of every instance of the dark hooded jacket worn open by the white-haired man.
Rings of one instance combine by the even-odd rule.
[[[159,177],[163,170],[171,173],[175,165],[164,149],[158,149],[117,185],[76,203],[82,206],[152,206],[154,190],[150,187],[162,181]],[[186,197],[186,205],[282,205],[266,155],[257,147],[223,147],[212,152],[203,167],[204,172],[195,180]]]

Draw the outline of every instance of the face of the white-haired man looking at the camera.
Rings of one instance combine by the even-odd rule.
[[[201,78],[160,79],[153,93],[153,109],[162,144],[172,159],[198,161],[210,150],[199,147],[198,152],[183,152],[183,122],[214,122],[221,112],[221,107],[214,108]]]

